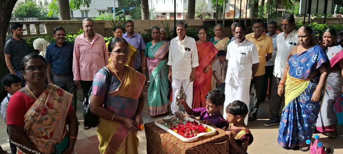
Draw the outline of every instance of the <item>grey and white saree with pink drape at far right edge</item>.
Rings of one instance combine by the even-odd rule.
[[[326,54],[334,67],[343,59],[343,48],[341,46],[329,47]],[[319,132],[330,132],[336,129],[337,119],[333,111],[333,103],[342,94],[343,78],[340,70],[331,72],[327,79],[326,93],[324,95],[321,111],[318,115],[316,129]]]

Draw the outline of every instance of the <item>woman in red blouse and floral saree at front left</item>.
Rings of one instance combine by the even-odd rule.
[[[59,145],[62,152],[71,154],[74,150],[78,119],[71,106],[73,95],[56,85],[46,85],[46,68],[43,56],[37,53],[26,55],[21,70],[27,84],[9,101],[7,126],[10,140],[25,145],[17,146],[19,154],[32,151],[52,154],[62,140],[69,141],[69,144]]]

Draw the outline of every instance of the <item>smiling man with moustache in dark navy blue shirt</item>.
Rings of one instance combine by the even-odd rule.
[[[54,29],[56,42],[46,48],[45,60],[48,63],[47,77],[49,85],[55,84],[67,92],[74,94],[74,44],[67,42],[65,36],[66,31],[62,27],[56,27]],[[53,74],[52,77],[51,72]]]

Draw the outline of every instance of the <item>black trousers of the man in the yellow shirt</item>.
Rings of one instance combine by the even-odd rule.
[[[255,99],[253,101],[253,104],[252,104],[251,110],[250,110],[250,114],[249,114],[250,116],[253,116],[254,118],[256,118],[256,116],[257,116],[257,111],[258,111],[258,108],[260,106],[260,103],[264,101],[264,100],[262,100],[263,80],[264,80],[264,75],[255,76],[251,80],[251,83],[250,83],[249,94],[251,92],[251,88],[253,85],[255,90],[256,90],[256,97],[257,97],[257,101],[255,101]]]

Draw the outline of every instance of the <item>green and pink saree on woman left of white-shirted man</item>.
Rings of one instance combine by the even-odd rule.
[[[168,112],[168,58],[169,43],[160,41],[148,49],[147,68],[150,86],[147,91],[148,113],[157,116]]]

